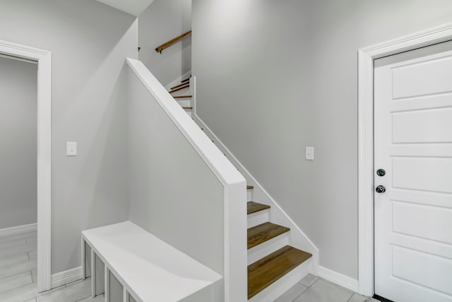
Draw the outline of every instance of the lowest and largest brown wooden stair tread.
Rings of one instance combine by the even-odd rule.
[[[286,245],[248,266],[248,298],[256,296],[312,255]]]

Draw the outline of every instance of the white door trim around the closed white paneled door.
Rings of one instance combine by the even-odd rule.
[[[374,59],[452,40],[452,23],[358,50],[358,281],[374,293]]]

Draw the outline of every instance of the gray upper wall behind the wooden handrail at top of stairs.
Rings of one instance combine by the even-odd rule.
[[[191,70],[191,37],[159,54],[155,47],[191,30],[191,0],[155,0],[138,18],[140,60],[167,85]]]

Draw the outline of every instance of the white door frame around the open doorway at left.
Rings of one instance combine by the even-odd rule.
[[[0,53],[37,62],[37,289],[51,288],[51,52],[0,40]]]

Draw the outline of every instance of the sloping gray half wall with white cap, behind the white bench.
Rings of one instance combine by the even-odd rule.
[[[127,64],[129,219],[221,274],[212,301],[244,302],[245,179],[141,62]]]

